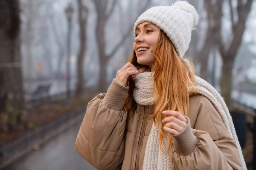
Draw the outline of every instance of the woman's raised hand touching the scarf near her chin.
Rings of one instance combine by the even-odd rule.
[[[139,74],[138,69],[131,64],[131,62],[127,62],[116,74],[116,82],[118,82],[122,86],[128,85],[128,77],[134,74]]]

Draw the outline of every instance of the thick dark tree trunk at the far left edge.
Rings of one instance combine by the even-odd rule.
[[[7,122],[1,122],[3,130],[15,129],[25,118],[19,5],[19,0],[0,2],[0,114],[8,116]]]

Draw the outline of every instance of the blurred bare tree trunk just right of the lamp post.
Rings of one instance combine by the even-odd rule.
[[[76,97],[81,96],[84,89],[84,51],[86,50],[86,26],[88,18],[88,9],[82,3],[82,0],[77,0],[78,6],[78,22],[80,28],[80,49],[77,59],[77,84],[76,84]]]

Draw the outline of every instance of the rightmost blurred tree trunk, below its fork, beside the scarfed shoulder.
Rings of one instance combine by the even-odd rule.
[[[232,68],[233,68],[233,57],[230,59],[226,58],[222,65],[222,76],[221,76],[221,95],[227,104],[227,107],[231,110],[231,90],[232,90]]]

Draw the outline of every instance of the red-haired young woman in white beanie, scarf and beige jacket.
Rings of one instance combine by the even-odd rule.
[[[99,170],[241,170],[224,100],[183,59],[198,23],[185,1],[145,11],[134,52],[87,106],[75,148]]]

